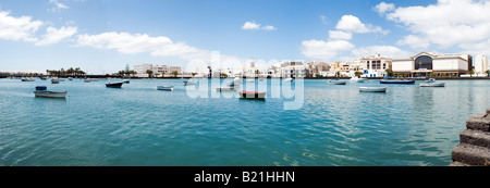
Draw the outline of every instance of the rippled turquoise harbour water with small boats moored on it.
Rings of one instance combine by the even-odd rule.
[[[189,98],[182,79],[0,79],[0,165],[445,166],[490,80],[444,82],[369,93],[358,87],[378,82],[305,80],[303,108],[284,110],[292,99]],[[37,85],[68,97],[35,98]]]

